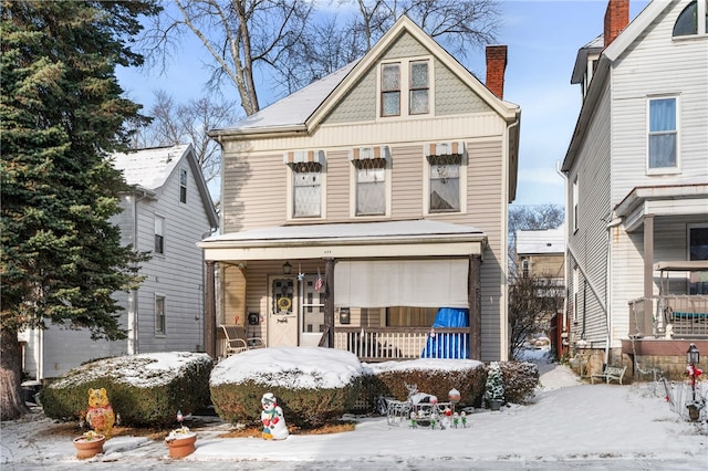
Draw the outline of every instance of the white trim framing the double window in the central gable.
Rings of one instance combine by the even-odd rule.
[[[410,63],[428,61],[428,113],[409,114],[410,112]],[[386,64],[398,64],[400,66],[400,113],[398,116],[382,116],[382,69]],[[376,121],[391,122],[400,119],[429,119],[435,116],[435,60],[431,55],[421,55],[406,59],[383,61],[376,69]]]

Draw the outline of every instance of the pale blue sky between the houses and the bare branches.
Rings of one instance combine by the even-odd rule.
[[[648,1],[633,0],[629,19]],[[519,185],[514,205],[564,205],[564,181],[556,168],[565,157],[581,106],[580,85],[570,77],[577,50],[603,31],[606,0],[500,1],[503,25],[498,43],[508,45],[504,100],[521,106]],[[185,44],[167,74],[117,71],[123,88],[149,109],[153,92],[165,90],[177,102],[204,94],[206,52]],[[483,51],[461,61],[482,82]],[[262,90],[268,90],[268,85]],[[236,92],[235,92],[236,94]],[[260,96],[261,107],[274,100]]]

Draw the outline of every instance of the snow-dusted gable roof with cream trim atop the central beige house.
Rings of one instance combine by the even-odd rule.
[[[409,33],[452,73],[477,93],[494,112],[508,122],[518,119],[519,106],[499,100],[471,72],[425,33],[408,17],[396,23],[361,60],[352,62],[299,92],[275,102],[226,129],[212,129],[209,136],[238,136],[272,133],[311,133],[354,87],[357,81],[382,59],[386,50],[404,33]]]

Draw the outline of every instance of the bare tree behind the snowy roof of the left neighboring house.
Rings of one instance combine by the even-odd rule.
[[[136,133],[135,147],[191,144],[205,179],[211,181],[219,175],[221,148],[207,133],[232,124],[237,119],[235,108],[235,102],[208,97],[179,104],[167,92],[157,91],[149,109],[153,121]]]

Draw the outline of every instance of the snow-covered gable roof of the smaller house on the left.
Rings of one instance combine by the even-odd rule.
[[[111,156],[113,166],[123,171],[125,181],[139,191],[155,196],[170,179],[180,163],[187,161],[197,182],[197,191],[211,227],[218,227],[218,217],[209,195],[207,181],[197,163],[191,144],[171,147],[154,147]]]

